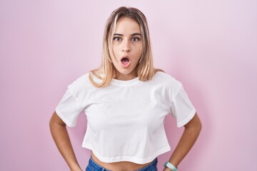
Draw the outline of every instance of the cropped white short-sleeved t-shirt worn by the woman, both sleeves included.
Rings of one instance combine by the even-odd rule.
[[[95,78],[97,81],[97,78]],[[163,120],[171,113],[181,127],[196,113],[179,81],[157,72],[151,81],[113,79],[96,88],[89,73],[68,86],[56,113],[69,127],[86,113],[87,128],[82,147],[102,162],[151,162],[171,150]]]

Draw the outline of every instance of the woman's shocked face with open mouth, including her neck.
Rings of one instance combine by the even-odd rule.
[[[118,71],[116,79],[131,80],[136,78],[133,72],[142,53],[142,36],[136,21],[122,17],[116,24],[113,38],[111,60]]]

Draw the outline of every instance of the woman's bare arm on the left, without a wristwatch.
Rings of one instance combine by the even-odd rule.
[[[49,125],[54,142],[61,152],[61,155],[64,157],[64,160],[66,160],[69,165],[71,171],[81,171],[79,163],[76,160],[74,150],[71,146],[71,140],[69,139],[66,124],[61,120],[61,118],[59,118],[59,115],[57,115],[56,112],[52,115]]]

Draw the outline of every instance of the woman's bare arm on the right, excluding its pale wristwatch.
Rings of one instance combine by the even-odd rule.
[[[193,147],[194,142],[196,142],[199,133],[201,132],[201,121],[198,118],[198,115],[194,117],[184,126],[185,130],[183,135],[176,146],[176,149],[173,151],[169,162],[171,162],[176,167],[178,164],[186,157],[191,147]],[[163,171],[170,171],[168,167],[165,167]]]

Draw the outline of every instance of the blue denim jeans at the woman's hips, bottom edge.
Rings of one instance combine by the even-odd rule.
[[[146,167],[143,167],[136,171],[157,171],[157,158],[151,162],[151,164],[147,165]],[[101,167],[101,165],[98,165],[91,157],[89,159],[89,165],[86,167],[86,171],[111,171],[107,170],[104,167]]]

